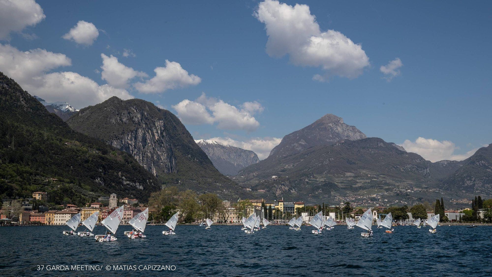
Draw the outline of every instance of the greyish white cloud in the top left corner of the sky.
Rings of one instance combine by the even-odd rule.
[[[10,32],[21,32],[45,17],[34,0],[0,0],[0,39],[8,39]]]

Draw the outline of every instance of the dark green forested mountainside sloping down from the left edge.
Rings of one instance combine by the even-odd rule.
[[[48,192],[55,204],[85,205],[117,193],[146,201],[157,179],[125,152],[74,132],[0,72],[0,196]]]

